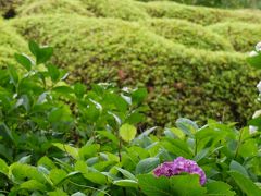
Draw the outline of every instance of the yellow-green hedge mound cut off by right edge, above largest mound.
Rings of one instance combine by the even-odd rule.
[[[236,51],[248,52],[261,40],[261,26],[247,23],[220,23],[210,29],[226,37]]]

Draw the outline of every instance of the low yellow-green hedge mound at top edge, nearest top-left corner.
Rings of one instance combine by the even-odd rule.
[[[55,14],[55,13],[76,13],[86,16],[94,14],[84,8],[84,4],[78,0],[27,0],[17,8],[20,15],[32,14]]]

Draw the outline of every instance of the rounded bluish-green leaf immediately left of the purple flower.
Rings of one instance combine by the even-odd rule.
[[[138,162],[136,166],[136,174],[141,174],[141,173],[149,173],[151,172],[154,168],[160,164],[160,159],[159,158],[147,158],[142,159],[141,161]]]

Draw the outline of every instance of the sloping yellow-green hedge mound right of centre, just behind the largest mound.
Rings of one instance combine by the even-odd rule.
[[[229,41],[222,36],[201,25],[184,20],[153,19],[140,21],[139,24],[157,35],[163,36],[173,42],[186,45],[189,48],[233,51]]]

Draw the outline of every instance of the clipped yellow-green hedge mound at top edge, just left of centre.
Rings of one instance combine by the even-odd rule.
[[[87,10],[101,17],[140,20],[148,17],[142,8],[133,0],[80,0]]]

